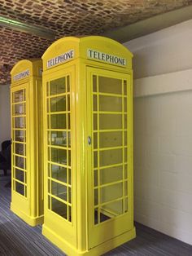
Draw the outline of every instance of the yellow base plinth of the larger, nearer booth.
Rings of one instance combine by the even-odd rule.
[[[65,254],[72,256],[98,256],[107,253],[111,249],[114,249],[136,237],[135,227],[129,232],[125,232],[120,236],[116,236],[110,241],[106,241],[101,245],[98,245],[89,250],[80,251],[69,245],[67,241],[63,240],[63,237],[58,236],[55,232],[46,227],[45,224],[42,225],[42,234],[46,236],[52,243],[62,249]]]

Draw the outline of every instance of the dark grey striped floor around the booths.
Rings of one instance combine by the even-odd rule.
[[[11,189],[0,179],[0,256],[64,255],[41,235],[41,226],[29,227],[10,211]],[[192,246],[136,223],[137,238],[105,254],[129,256],[192,256]]]

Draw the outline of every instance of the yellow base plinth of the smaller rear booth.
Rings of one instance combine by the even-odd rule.
[[[19,210],[17,207],[15,207],[15,205],[13,205],[13,203],[11,203],[11,211],[14,214],[16,214],[17,216],[19,216],[20,218],[22,218],[25,223],[28,223],[28,225],[30,225],[32,227],[35,227],[38,224],[43,223],[43,216],[39,216],[39,217],[36,217],[36,218],[28,216],[27,214],[25,214],[24,212]]]

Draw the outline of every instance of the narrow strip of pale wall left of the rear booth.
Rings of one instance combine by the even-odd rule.
[[[11,109],[9,85],[0,86],[0,143],[7,139],[11,139]]]

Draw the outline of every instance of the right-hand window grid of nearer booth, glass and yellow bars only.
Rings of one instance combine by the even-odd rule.
[[[103,79],[93,75],[94,148],[92,156],[95,224],[115,218],[127,211],[128,177],[125,176],[125,166],[127,168],[128,145],[127,118],[125,117],[128,114],[128,97],[125,93],[126,86],[126,81],[122,79],[114,78],[113,80],[110,77],[107,84],[107,77]]]

